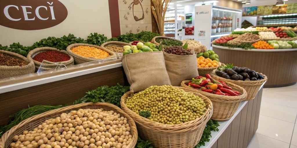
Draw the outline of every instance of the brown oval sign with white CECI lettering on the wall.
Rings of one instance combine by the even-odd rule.
[[[0,10],[0,25],[19,30],[50,28],[63,22],[68,14],[58,0],[4,0]]]

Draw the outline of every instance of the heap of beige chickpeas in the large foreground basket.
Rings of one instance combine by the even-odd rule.
[[[132,142],[127,118],[114,111],[79,109],[45,120],[13,137],[11,148],[126,148]]]

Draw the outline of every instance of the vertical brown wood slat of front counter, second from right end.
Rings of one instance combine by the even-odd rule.
[[[253,109],[253,100],[249,100],[248,102],[248,108],[247,108],[247,120],[245,124],[245,130],[244,130],[244,141],[243,141],[243,147],[247,147],[249,144],[249,129],[251,127],[251,118],[252,118],[252,109]]]

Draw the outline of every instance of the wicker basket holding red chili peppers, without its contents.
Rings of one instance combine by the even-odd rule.
[[[197,93],[200,93],[208,97],[211,100],[213,105],[213,113],[212,113],[211,119],[214,119],[214,120],[223,121],[223,120],[228,120],[232,118],[240,102],[247,97],[247,92],[242,87],[230,82],[225,82],[225,83],[228,86],[230,86],[232,90],[238,91],[241,95],[223,96],[223,95],[211,94],[211,93],[193,89],[192,87],[187,86],[185,83],[189,81],[190,80],[182,81],[181,87],[184,87],[186,90],[195,91]]]

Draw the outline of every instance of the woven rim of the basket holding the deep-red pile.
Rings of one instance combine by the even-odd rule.
[[[35,48],[35,49],[31,50],[28,53],[27,58],[33,60],[33,62],[34,62],[35,65],[41,65],[42,62],[39,62],[39,61],[36,61],[36,60],[33,59],[34,58],[33,57],[33,54],[36,54],[37,55],[37,54],[40,54],[42,52],[49,51],[49,50],[62,52],[64,54],[67,54],[70,57],[69,60],[62,61],[61,64],[68,64],[68,63],[72,63],[74,61],[73,56],[71,54],[69,54],[66,50],[59,50],[59,49],[56,49],[56,48],[53,48],[53,47],[39,47],[39,48]],[[43,63],[43,65],[52,66],[53,64]]]

